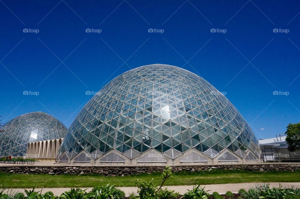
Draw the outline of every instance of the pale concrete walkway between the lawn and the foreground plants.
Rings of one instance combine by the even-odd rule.
[[[261,184],[261,183],[259,183]],[[300,187],[300,182],[282,182],[280,183],[282,187]],[[210,190],[208,191],[209,193],[212,192],[218,192],[220,194],[225,194],[227,191],[231,191],[233,193],[237,193],[238,190],[241,188],[249,188],[249,187],[254,187],[256,183],[236,183],[236,184],[213,184],[213,185],[202,185],[201,187],[205,187],[205,190]],[[271,182],[270,187],[279,187],[279,182]],[[125,194],[128,196],[130,193],[134,192],[137,193],[137,187],[118,187],[121,190],[125,192]],[[188,186],[168,186],[168,189],[174,190],[175,192],[179,192],[180,194],[186,193],[187,189],[192,189],[193,186],[188,185]],[[87,189],[86,191],[91,191],[92,188],[82,188],[82,189]],[[24,189],[13,189],[14,191],[17,192],[23,192]],[[28,189],[27,189],[28,190]],[[40,191],[41,188],[36,188],[35,191]],[[42,193],[51,191],[54,193],[54,195],[60,195],[65,191],[70,190],[70,188],[43,188]]]

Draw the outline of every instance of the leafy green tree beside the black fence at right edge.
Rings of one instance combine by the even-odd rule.
[[[285,140],[289,145],[288,150],[291,152],[300,150],[300,123],[288,124],[285,134],[287,134]]]

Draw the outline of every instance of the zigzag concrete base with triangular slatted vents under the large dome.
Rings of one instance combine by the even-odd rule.
[[[150,149],[142,154],[133,156],[133,153],[119,153],[116,150],[111,150],[106,154],[99,154],[93,156],[82,151],[77,155],[73,153],[63,153],[57,159],[58,164],[63,165],[197,165],[197,164],[241,164],[241,163],[261,163],[262,160],[247,150],[246,153],[232,153],[224,149],[220,153],[210,150],[201,153],[197,150],[191,149],[186,153],[176,154],[159,153],[156,150]],[[128,157],[129,156],[129,157]]]

